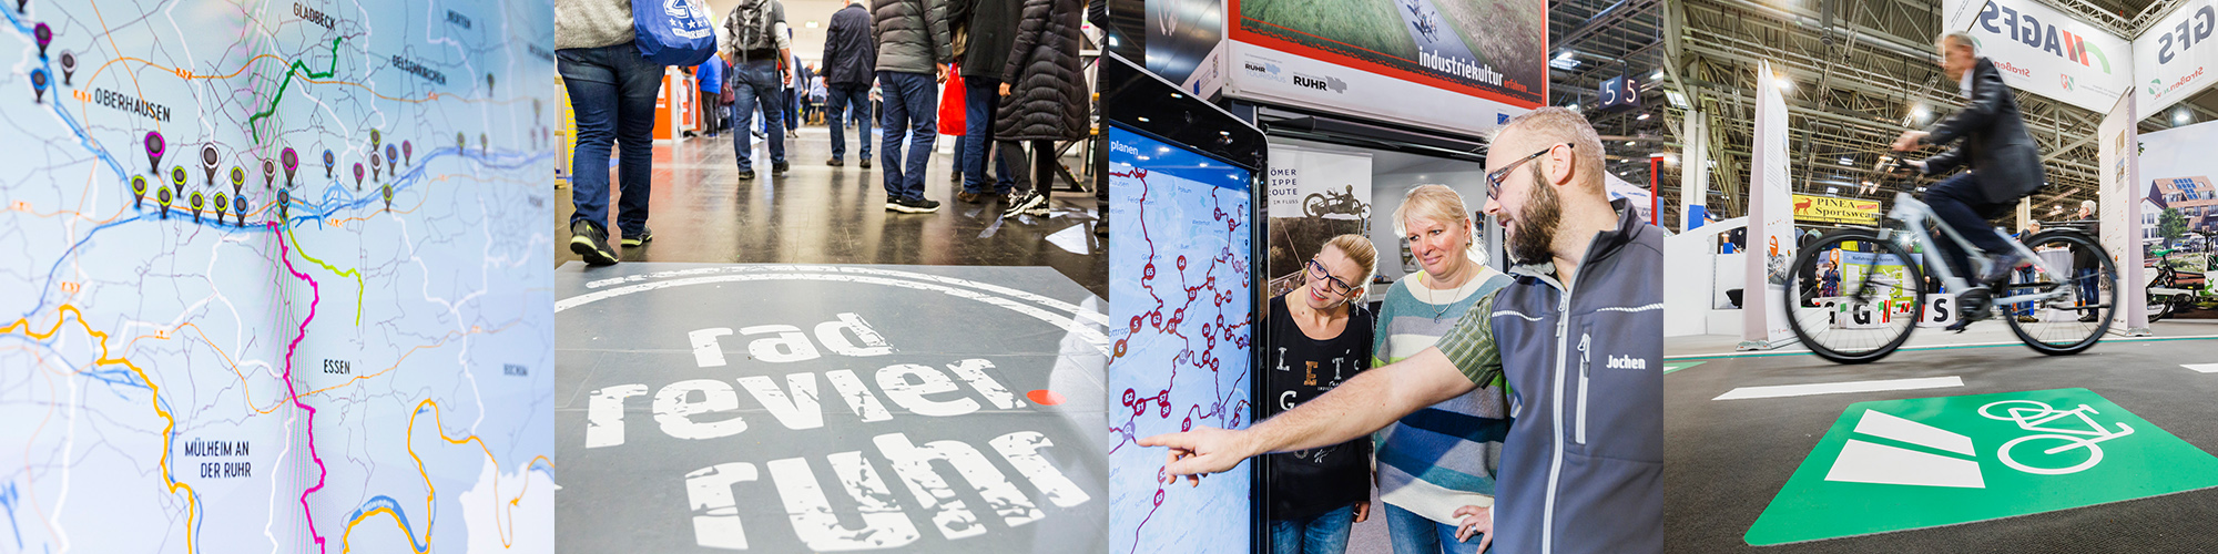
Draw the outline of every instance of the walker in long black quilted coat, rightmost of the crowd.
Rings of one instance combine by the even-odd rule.
[[[1056,142],[1087,135],[1087,75],[1080,71],[1078,27],[1085,0],[1025,0],[1009,60],[1000,71],[1003,104],[994,115],[994,140],[1022,168],[1020,142],[1031,144],[1031,191],[1009,204],[1003,217],[1047,217],[1047,191],[1056,184]],[[1022,186],[1022,173],[1018,188]]]

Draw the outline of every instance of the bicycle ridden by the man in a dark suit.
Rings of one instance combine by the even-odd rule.
[[[1888,182],[1885,175],[1899,171],[1899,162],[1881,164],[1876,182]],[[2036,255],[2056,248],[2103,253],[2103,244],[2087,233],[2056,228],[2018,242],[1994,230],[2034,264],[2032,277],[2018,284],[1996,281],[1974,288],[1950,264],[1927,264],[1930,259],[1912,255],[1921,244],[1939,246],[1927,226],[1941,228],[1941,237],[1947,237],[1954,248],[1972,253],[1972,275],[1985,273],[1994,264],[1970,239],[1941,224],[1925,202],[1896,191],[1894,208],[1888,211],[1883,226],[1825,233],[1794,255],[1781,279],[1785,284],[1781,297],[1788,328],[1794,330],[1794,337],[1810,346],[1810,352],[1834,363],[1870,363],[1892,355],[1923,319],[1927,295],[1936,293],[1925,286],[1925,266],[1939,273],[1945,290],[1963,290],[1950,301],[1970,306],[1958,317],[1992,315],[1996,308],[2025,312],[2025,317],[2003,317],[2003,321],[2010,321],[2018,341],[2036,352],[2076,355],[2094,348],[2109,332],[2116,308],[2114,301],[2105,304],[2105,299],[2116,297],[2118,290],[2118,268],[2109,255],[2096,255],[2100,259],[2096,273],[2078,273],[2069,266],[2054,268]],[[1834,297],[1814,297],[1810,293],[1821,288],[1801,286],[1817,284],[1819,261],[1839,261]],[[2080,279],[2096,279],[2096,297],[2078,297]]]

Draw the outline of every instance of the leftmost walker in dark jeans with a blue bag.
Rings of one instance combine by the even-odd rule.
[[[625,246],[654,237],[648,195],[654,177],[654,95],[663,66],[632,44],[630,0],[557,0],[554,69],[577,113],[570,157],[570,250],[588,266],[617,264],[608,246],[608,151],[619,148],[617,228]]]

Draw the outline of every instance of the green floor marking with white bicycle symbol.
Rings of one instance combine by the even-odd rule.
[[[2218,488],[2218,456],[2085,388],[1861,401],[1743,541],[1921,530],[2202,488]]]

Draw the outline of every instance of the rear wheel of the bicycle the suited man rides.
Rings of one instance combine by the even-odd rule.
[[[2010,284],[1996,293],[1996,297],[2061,290],[2065,295],[2043,299],[2043,301],[2016,301],[2003,306],[2003,321],[2010,321],[2010,330],[2025,341],[2027,348],[2043,355],[2078,355],[2080,350],[2094,348],[2096,341],[2109,332],[2109,321],[2118,310],[2118,266],[2109,261],[2094,237],[2078,230],[2047,230],[2025,239],[2025,246],[2034,253],[2069,253],[2072,259],[2083,259],[2080,253],[2094,253],[2089,268],[2072,264],[2052,266],[2063,275],[2034,275],[2029,284]],[[2085,248],[2085,250],[2083,250]],[[2049,281],[2049,277],[2061,281]],[[2087,295],[2087,290],[2094,295]],[[2021,319],[2021,315],[2025,321]],[[2092,319],[2092,321],[2083,321]]]

